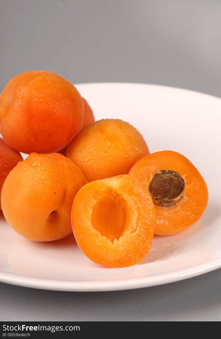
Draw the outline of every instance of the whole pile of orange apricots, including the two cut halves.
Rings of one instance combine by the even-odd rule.
[[[57,74],[24,72],[6,84],[0,132],[0,207],[27,239],[73,232],[94,262],[130,266],[148,254],[154,235],[186,230],[206,208],[206,183],[188,159],[150,154],[128,122],[95,121]]]

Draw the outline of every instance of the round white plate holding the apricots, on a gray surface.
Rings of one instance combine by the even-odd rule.
[[[129,121],[151,152],[170,149],[198,168],[209,190],[201,219],[174,236],[155,236],[138,265],[108,268],[93,263],[73,236],[51,243],[19,236],[0,217],[0,281],[62,291],[111,291],[147,287],[221,267],[221,99],[184,89],[132,84],[77,85],[96,119]]]

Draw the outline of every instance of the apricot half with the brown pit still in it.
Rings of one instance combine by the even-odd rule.
[[[173,151],[150,154],[129,174],[145,184],[156,208],[154,234],[171,235],[186,230],[203,214],[208,202],[206,183],[196,167]]]

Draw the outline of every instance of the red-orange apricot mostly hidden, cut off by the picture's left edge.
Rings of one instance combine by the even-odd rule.
[[[0,210],[1,207],[1,191],[2,185],[8,173],[17,165],[23,158],[21,154],[12,147],[8,146],[6,142],[0,138]]]

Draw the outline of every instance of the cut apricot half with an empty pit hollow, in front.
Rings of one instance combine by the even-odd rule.
[[[148,254],[156,212],[145,185],[120,175],[83,186],[74,198],[71,221],[75,239],[89,259],[123,267]]]

